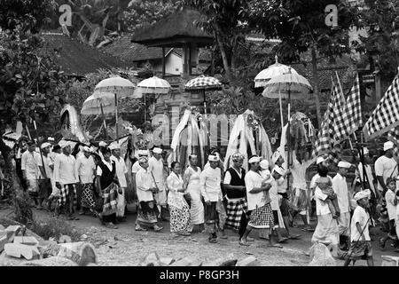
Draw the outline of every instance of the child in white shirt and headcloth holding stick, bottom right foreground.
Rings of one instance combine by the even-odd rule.
[[[369,234],[370,215],[369,208],[370,191],[360,191],[355,194],[357,207],[353,212],[350,225],[350,248],[344,266],[348,266],[353,260],[367,260],[368,266],[374,266],[372,259],[372,241]]]

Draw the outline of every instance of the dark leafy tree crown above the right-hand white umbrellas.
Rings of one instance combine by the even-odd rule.
[[[325,7],[338,7],[338,27],[325,25]],[[348,53],[348,30],[357,25],[357,9],[342,0],[251,1],[248,25],[267,38],[282,42],[277,51],[289,62],[298,61],[302,52],[315,47],[319,54],[335,58]]]

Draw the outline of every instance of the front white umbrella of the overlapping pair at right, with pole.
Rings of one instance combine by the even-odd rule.
[[[309,95],[309,91],[312,90],[309,81],[299,74],[293,74],[291,67],[289,67],[288,73],[274,77],[265,84],[262,95],[270,99],[288,99],[287,129],[290,130],[291,95],[294,95],[293,99],[304,99]],[[290,150],[290,140],[288,140],[288,166],[291,165]]]

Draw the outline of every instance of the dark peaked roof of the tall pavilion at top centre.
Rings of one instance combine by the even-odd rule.
[[[153,25],[137,30],[132,36],[135,43],[154,43],[163,39],[182,37],[202,37],[212,39],[204,30],[195,25],[196,20],[201,20],[200,12],[183,9],[157,21]]]

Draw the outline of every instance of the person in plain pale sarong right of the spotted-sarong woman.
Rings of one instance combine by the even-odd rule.
[[[195,154],[189,157],[190,167],[184,171],[184,188],[187,189],[187,193],[190,194],[191,198],[191,222],[190,229],[192,231],[194,226],[201,226],[200,230],[204,229],[204,204],[201,200],[201,189],[200,189],[200,167],[197,167],[198,157]]]

